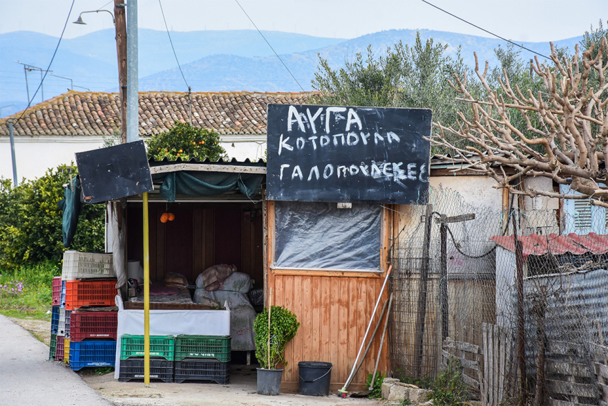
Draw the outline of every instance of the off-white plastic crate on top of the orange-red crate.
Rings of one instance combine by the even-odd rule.
[[[62,281],[77,279],[115,278],[112,267],[112,254],[66,251],[64,266],[61,269]]]

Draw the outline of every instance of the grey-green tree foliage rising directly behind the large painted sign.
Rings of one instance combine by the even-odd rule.
[[[468,78],[468,91],[481,94],[483,89],[473,71],[464,64],[460,48],[455,58],[445,55],[448,45],[436,44],[432,38],[423,42],[417,33],[413,46],[401,42],[376,57],[371,46],[363,57],[357,53],[354,62],[333,70],[319,57],[318,72],[312,87],[319,95],[317,104],[374,107],[410,107],[433,110],[433,121],[456,124],[457,114],[471,117],[471,106],[456,100],[458,93],[448,80],[454,74]],[[437,149],[437,147],[434,147]],[[437,152],[437,151],[435,151]]]

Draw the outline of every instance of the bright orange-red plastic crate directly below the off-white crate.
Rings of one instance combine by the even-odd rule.
[[[115,296],[116,279],[66,281],[66,310],[75,310],[80,306],[114,306]]]

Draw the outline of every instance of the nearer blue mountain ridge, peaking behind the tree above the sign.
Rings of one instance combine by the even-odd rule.
[[[461,55],[469,66],[475,66],[473,52],[477,52],[479,64],[488,60],[490,66],[496,66],[498,61],[494,55],[495,48],[505,46],[500,39],[476,37],[446,33],[443,31],[420,30],[421,38],[426,41],[433,38],[435,42],[448,44],[447,54],[455,57],[458,46],[462,46]],[[296,77],[296,80],[306,91],[312,90],[311,80],[317,71],[319,55],[334,68],[343,66],[345,60],[352,60],[356,53],[365,53],[368,45],[372,45],[374,53],[381,55],[386,48],[394,46],[399,41],[403,44],[414,44],[416,30],[388,30],[355,39],[349,39],[339,44],[326,46],[301,53],[281,55],[281,59]],[[568,47],[573,50],[581,37],[555,41],[556,46]],[[549,55],[549,43],[522,43],[526,48],[538,53]],[[533,57],[529,51],[522,50],[522,57]],[[541,60],[543,58],[541,57]],[[193,89],[206,91],[301,91],[298,83],[291,77],[281,61],[276,56],[269,57],[240,57],[234,55],[211,55],[189,64],[182,64],[182,71]],[[178,68],[172,68],[140,78],[140,90],[178,90],[183,91],[182,76]]]

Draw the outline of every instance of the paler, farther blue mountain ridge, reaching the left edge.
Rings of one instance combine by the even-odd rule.
[[[263,33],[276,52],[283,54],[324,48],[344,41],[340,38],[312,37],[278,31]],[[91,91],[115,91],[118,88],[118,68],[114,37],[114,30],[108,29],[82,37],[63,39],[51,66],[53,74],[72,79],[75,90],[84,90],[76,87],[82,86]],[[171,32],[171,39],[180,64],[221,53],[241,57],[274,55],[264,39],[254,30]],[[28,93],[23,66],[14,61],[19,60],[46,69],[57,46],[57,40],[55,37],[30,31],[0,35],[0,107],[12,104],[11,100],[21,100],[27,105]],[[176,66],[167,32],[140,29],[139,47],[140,77]],[[39,84],[39,71],[29,72],[30,97]],[[69,80],[47,76],[44,81],[44,98],[64,93],[69,87]],[[179,89],[184,90],[183,82]],[[40,100],[41,93],[34,102]],[[9,111],[10,109],[2,109],[0,114],[6,116]]]

